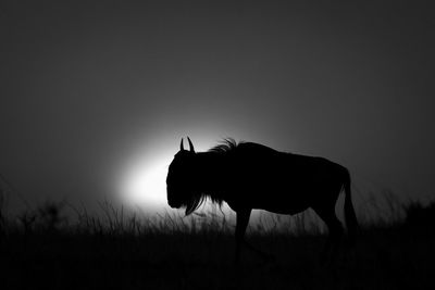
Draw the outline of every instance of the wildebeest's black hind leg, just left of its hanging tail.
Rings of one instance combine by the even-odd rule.
[[[335,214],[335,206],[328,209],[313,209],[316,214],[323,219],[328,229],[326,244],[321,254],[322,264],[335,260],[338,255],[339,245],[341,242],[344,228]]]

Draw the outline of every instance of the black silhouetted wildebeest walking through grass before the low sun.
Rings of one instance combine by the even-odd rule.
[[[345,191],[345,218],[350,241],[358,222],[350,197],[350,175],[346,167],[323,157],[279,152],[269,147],[225,139],[207,152],[195,152],[190,139],[185,150],[183,139],[166,177],[167,203],[186,207],[186,215],[204,199],[222,205],[225,201],[236,212],[236,251],[241,244],[266,257],[245,241],[252,209],[278,214],[297,214],[309,207],[324,220],[330,237],[325,252],[337,248],[343,236],[335,204]]]

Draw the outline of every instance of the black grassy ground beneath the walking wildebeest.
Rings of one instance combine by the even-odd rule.
[[[353,250],[326,266],[322,235],[251,232],[276,261],[245,252],[235,266],[229,230],[211,227],[12,228],[0,243],[0,289],[435,289],[435,220],[415,220],[366,226]]]

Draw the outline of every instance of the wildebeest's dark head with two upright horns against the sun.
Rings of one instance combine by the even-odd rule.
[[[167,204],[173,209],[186,207],[186,215],[191,214],[202,202],[195,176],[195,149],[189,142],[189,150],[184,149],[183,139],[179,151],[170,164],[166,177]]]

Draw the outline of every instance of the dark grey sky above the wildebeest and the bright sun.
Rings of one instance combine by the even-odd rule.
[[[434,193],[423,2],[0,3],[0,173],[30,203],[115,194],[128,164],[171,159],[187,135],[198,150],[257,141]]]

